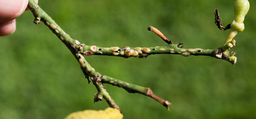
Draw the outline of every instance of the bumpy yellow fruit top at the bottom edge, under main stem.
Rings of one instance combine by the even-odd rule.
[[[118,109],[108,107],[104,111],[85,110],[69,114],[65,119],[123,119]]]

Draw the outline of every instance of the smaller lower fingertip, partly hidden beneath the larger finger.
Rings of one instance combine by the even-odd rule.
[[[0,23],[0,36],[14,33],[16,30],[15,19]]]

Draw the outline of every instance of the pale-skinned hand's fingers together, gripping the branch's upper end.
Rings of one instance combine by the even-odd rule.
[[[38,3],[38,0],[34,1]],[[0,36],[15,32],[15,19],[29,10],[27,5],[28,0],[0,0]]]

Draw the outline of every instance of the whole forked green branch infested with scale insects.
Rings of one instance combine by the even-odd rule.
[[[85,60],[83,55],[111,55],[111,56],[120,56],[120,57],[147,57],[151,54],[181,54],[182,56],[189,55],[205,55],[212,56],[215,58],[220,58],[226,61],[231,62],[232,64],[236,63],[236,57],[233,55],[235,52],[229,54],[228,51],[223,51],[223,48],[216,49],[184,49],[182,43],[172,44],[172,41],[168,40],[159,30],[150,26],[148,27],[149,31],[156,33],[159,37],[161,37],[166,43],[167,46],[156,46],[156,47],[135,47],[130,48],[128,46],[119,48],[119,47],[97,47],[97,46],[88,46],[85,44],[81,44],[78,40],[72,39],[65,31],[63,31],[58,24],[48,16],[33,0],[29,0],[28,7],[33,13],[35,19],[34,23],[39,24],[41,21],[44,22],[46,26],[49,27],[50,30],[68,47],[71,53],[75,56],[76,60],[79,62],[81,69],[85,75],[85,78],[88,79],[88,83],[90,83],[89,77],[91,81],[95,85],[98,90],[98,94],[96,94],[94,101],[101,101],[103,98],[110,105],[110,107],[119,109],[119,106],[114,102],[114,100],[110,97],[108,92],[106,91],[103,83],[108,83],[112,85],[116,85],[118,87],[124,88],[130,93],[140,93],[145,96],[149,96],[158,102],[160,102],[163,106],[167,107],[169,110],[169,103],[166,100],[163,100],[157,96],[155,96],[150,88],[130,84],[124,81],[120,81],[117,79],[113,79],[106,75],[101,75],[90,64]],[[226,28],[222,27],[221,18],[219,18],[219,13],[217,9],[215,9],[215,23],[221,30],[229,29],[228,25]],[[232,41],[232,43],[235,41]],[[232,61],[230,59],[233,59]],[[234,62],[235,61],[235,62]]]

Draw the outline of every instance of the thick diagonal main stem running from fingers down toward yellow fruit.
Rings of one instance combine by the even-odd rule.
[[[79,48],[75,48],[77,45],[82,48],[84,44],[80,44],[78,40],[72,39],[33,0],[29,0],[28,7],[35,17],[34,23],[38,24],[40,21],[43,21],[49,27],[49,29],[51,29],[52,32],[56,34],[56,36],[58,36],[58,38],[69,48],[69,50],[75,56],[76,60],[79,62],[85,77],[88,79],[88,82],[90,82],[89,76],[91,77],[91,81],[93,81],[93,84],[98,90],[99,97],[102,96],[106,102],[108,102],[110,107],[119,109],[119,106],[110,97],[108,92],[104,89],[103,84],[101,83],[101,79],[104,77],[102,77],[100,73],[96,72],[95,69],[90,66],[90,64],[85,60],[84,56],[80,54]],[[100,98],[95,100],[100,100]]]

